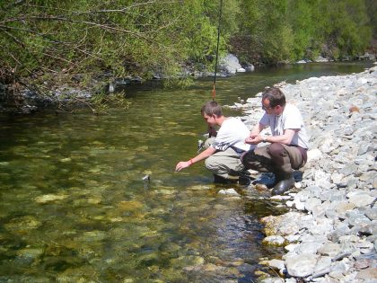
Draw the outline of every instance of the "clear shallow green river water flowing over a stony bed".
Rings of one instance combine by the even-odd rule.
[[[236,102],[282,80],[359,72],[311,65],[220,79],[217,100]],[[1,118],[0,281],[250,282],[259,218],[279,213],[266,193],[215,186],[196,155],[211,82],[130,95],[108,115]],[[228,111],[229,112],[229,111]],[[238,115],[238,113],[230,113]],[[145,174],[150,183],[143,181]],[[241,197],[218,190],[234,188]],[[277,256],[277,254],[276,254]]]

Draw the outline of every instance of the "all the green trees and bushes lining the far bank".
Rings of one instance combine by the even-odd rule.
[[[376,32],[375,6],[224,0],[220,54],[256,65],[362,55]],[[188,65],[213,69],[219,9],[220,0],[0,1],[0,83],[48,95],[63,84],[91,88],[113,77],[177,75]],[[84,79],[72,81],[75,74]]]

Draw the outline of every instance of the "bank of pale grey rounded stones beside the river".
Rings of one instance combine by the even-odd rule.
[[[263,263],[285,282],[373,282],[377,66],[359,74],[279,86],[287,101],[302,111],[311,148],[302,181],[284,196],[271,198],[284,201],[290,211],[261,219],[264,243],[285,246],[286,252],[282,259]],[[242,117],[247,125],[259,119],[260,94],[234,105],[247,114]],[[267,277],[263,282],[282,279]]]

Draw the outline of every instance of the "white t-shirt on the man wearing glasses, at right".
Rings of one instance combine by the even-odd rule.
[[[285,109],[280,116],[267,114],[260,119],[259,124],[269,126],[272,136],[281,136],[285,129],[298,129],[292,138],[291,145],[309,148],[308,136],[306,135],[305,126],[300,111],[293,104],[286,103]]]

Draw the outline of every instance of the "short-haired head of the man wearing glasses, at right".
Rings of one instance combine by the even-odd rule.
[[[262,108],[267,114],[281,115],[285,108],[285,95],[277,87],[270,87],[262,93]]]

